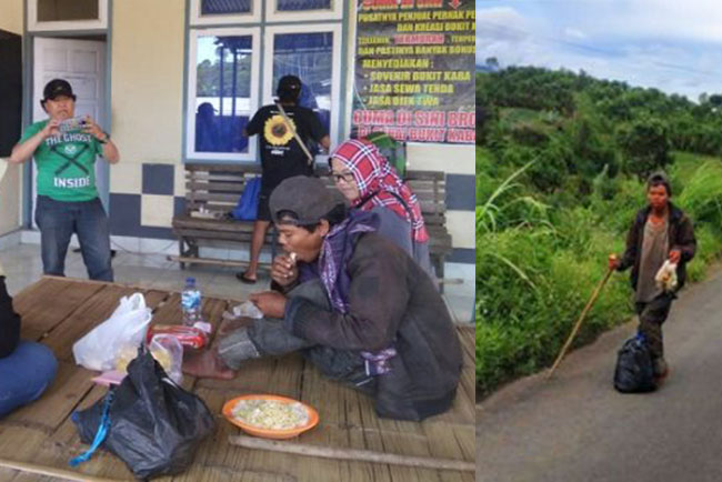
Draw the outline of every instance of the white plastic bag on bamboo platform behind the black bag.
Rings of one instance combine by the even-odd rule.
[[[113,370],[122,347],[139,347],[146,340],[150,320],[150,309],[141,293],[121,298],[108,320],[72,345],[76,363],[89,370]]]

